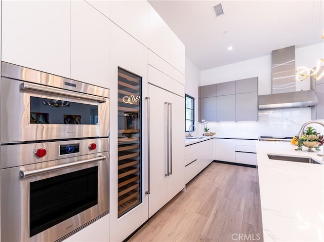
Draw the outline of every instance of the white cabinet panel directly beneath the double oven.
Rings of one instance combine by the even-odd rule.
[[[110,214],[71,235],[64,242],[104,242],[109,238]]]

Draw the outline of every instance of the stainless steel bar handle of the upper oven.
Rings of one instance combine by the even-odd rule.
[[[36,92],[41,92],[41,93],[55,94],[55,95],[72,97],[72,98],[77,98],[77,99],[86,99],[86,100],[91,100],[91,101],[97,101],[100,103],[106,102],[106,99],[103,97],[97,97],[97,96],[90,95],[90,94],[81,94],[81,93],[76,93],[76,92],[73,93],[72,91],[66,91],[63,89],[61,90],[61,89],[45,87],[45,86],[43,87],[41,85],[36,85],[36,84],[31,84],[31,83],[20,84],[20,90],[36,91]]]

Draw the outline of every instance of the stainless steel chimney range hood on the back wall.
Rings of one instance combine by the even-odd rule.
[[[314,90],[296,92],[295,46],[271,52],[272,94],[259,96],[259,110],[317,104]]]

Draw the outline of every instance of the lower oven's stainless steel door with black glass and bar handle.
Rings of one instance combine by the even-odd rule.
[[[55,241],[107,213],[108,151],[1,169],[1,241]]]

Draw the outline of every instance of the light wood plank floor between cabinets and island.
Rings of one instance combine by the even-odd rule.
[[[263,241],[257,175],[212,163],[129,241]]]

